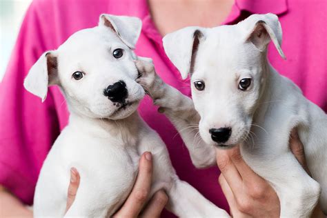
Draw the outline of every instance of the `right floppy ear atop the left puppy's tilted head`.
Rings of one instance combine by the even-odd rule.
[[[106,26],[114,30],[123,43],[135,49],[141,33],[142,21],[137,17],[101,14],[99,26]]]

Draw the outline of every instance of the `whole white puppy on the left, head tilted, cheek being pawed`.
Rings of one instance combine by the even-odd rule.
[[[48,86],[56,84],[70,110],[37,181],[35,217],[64,216],[71,167],[79,170],[81,183],[66,217],[110,217],[132,189],[145,151],[153,155],[150,195],[164,188],[168,210],[179,217],[228,217],[179,180],[164,142],[137,113],[145,92],[136,82],[132,49],[140,32],[135,17],[103,14],[99,26],[72,34],[32,66],[26,89],[44,100]]]

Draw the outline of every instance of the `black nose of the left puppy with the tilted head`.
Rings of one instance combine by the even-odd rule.
[[[108,97],[112,102],[123,102],[127,96],[128,91],[124,81],[117,81],[103,90],[103,95]]]

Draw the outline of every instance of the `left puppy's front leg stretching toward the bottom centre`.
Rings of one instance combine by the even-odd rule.
[[[164,188],[169,199],[166,208],[177,217],[229,217],[225,210],[212,204],[190,184],[177,177],[166,145],[157,132],[150,130],[146,123],[142,130],[138,152],[150,151],[153,155],[150,196]]]

